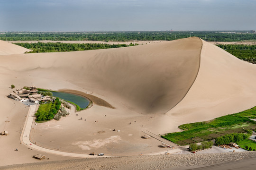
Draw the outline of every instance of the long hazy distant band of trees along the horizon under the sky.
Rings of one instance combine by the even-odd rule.
[[[6,32],[0,34],[3,41],[154,41],[175,40],[190,36],[200,37],[205,41],[233,42],[255,40],[256,34],[249,31],[239,33],[221,33],[213,31],[144,31],[144,32]]]

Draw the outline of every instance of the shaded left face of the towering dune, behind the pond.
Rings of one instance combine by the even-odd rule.
[[[55,80],[68,81],[139,113],[164,114],[194,82],[201,46],[193,37],[118,49],[3,56],[0,65],[24,78],[45,78],[53,89],[60,88]]]

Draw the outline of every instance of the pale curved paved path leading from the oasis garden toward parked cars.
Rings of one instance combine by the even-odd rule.
[[[51,150],[51,149],[47,149],[41,146],[38,146],[36,144],[33,144],[30,139],[30,131],[32,128],[32,124],[34,122],[34,113],[37,110],[38,105],[30,105],[29,106],[29,110],[27,113],[27,119],[26,122],[24,124],[21,136],[20,136],[20,141],[22,144],[27,145],[27,147],[40,151],[40,152],[44,152],[44,153],[52,153],[52,154],[57,154],[57,155],[62,155],[62,156],[71,156],[71,157],[79,157],[79,158],[95,158],[95,157],[99,157],[97,155],[92,156],[92,155],[88,155],[88,154],[82,154],[82,153],[68,153],[68,152],[62,152],[62,151],[56,151],[56,150]],[[110,157],[110,156],[106,156],[104,155],[103,157]]]

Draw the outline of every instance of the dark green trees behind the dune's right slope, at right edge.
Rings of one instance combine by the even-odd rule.
[[[236,56],[238,59],[256,64],[256,45],[219,44],[217,46]]]

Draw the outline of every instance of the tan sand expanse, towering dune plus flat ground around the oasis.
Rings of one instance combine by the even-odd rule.
[[[0,136],[0,145],[5,146],[0,166],[38,162],[32,156],[41,153],[20,144],[28,107],[6,97],[11,84],[80,91],[113,106],[94,102],[78,116],[72,107],[60,121],[32,125],[32,142],[73,153],[161,153],[166,149],[159,145],[167,141],[160,141],[158,134],[256,103],[256,66],[196,37],[118,49],[2,55],[0,78],[0,129],[9,131]],[[156,138],[141,138],[145,133]],[[50,161],[74,159],[41,154]]]

